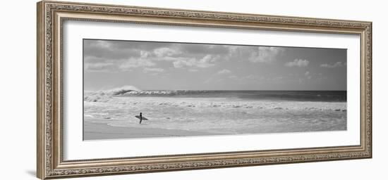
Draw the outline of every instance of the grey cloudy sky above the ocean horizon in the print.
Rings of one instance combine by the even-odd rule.
[[[346,49],[83,40],[84,89],[346,91]]]

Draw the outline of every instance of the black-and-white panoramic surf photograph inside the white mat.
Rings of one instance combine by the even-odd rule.
[[[84,140],[346,129],[346,49],[83,39]]]

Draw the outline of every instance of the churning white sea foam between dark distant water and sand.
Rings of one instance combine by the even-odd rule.
[[[346,129],[346,102],[107,95],[100,97],[103,98],[96,102],[85,101],[85,120],[104,120],[111,126],[120,127],[231,134]],[[149,119],[143,122],[142,126],[139,126],[138,119],[134,117],[140,112]]]

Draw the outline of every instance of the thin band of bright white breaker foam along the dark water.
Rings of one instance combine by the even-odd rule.
[[[313,101],[241,101],[226,98],[159,98],[159,97],[112,97],[96,96],[106,105],[121,104],[126,106],[147,105],[152,107],[190,107],[190,108],[246,108],[273,110],[337,110],[346,111],[343,102],[313,102]],[[91,96],[88,96],[91,97]],[[87,101],[87,100],[85,100]]]

